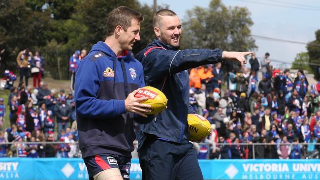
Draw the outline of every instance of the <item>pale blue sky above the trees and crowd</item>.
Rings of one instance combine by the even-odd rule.
[[[153,0],[139,1],[142,4],[153,4]],[[249,9],[254,22],[251,27],[253,35],[308,43],[316,39],[315,32],[320,29],[320,0],[222,0],[222,2],[226,6]],[[187,10],[195,6],[208,7],[210,0],[157,0],[157,3],[169,5],[169,9],[176,12],[183,21]],[[254,39],[258,46],[256,51],[258,58],[268,52],[271,60],[292,62],[298,53],[307,52],[305,44],[256,37]],[[285,65],[276,61],[271,61],[271,64],[281,67]],[[286,66],[290,67],[290,64]]]

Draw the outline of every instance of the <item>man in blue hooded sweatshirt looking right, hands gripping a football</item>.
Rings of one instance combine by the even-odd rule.
[[[107,37],[80,61],[75,77],[79,147],[90,180],[128,180],[134,150],[133,120],[148,123],[147,97],[135,98],[144,87],[143,69],[130,54],[140,40],[141,13],[126,6],[107,20]]]

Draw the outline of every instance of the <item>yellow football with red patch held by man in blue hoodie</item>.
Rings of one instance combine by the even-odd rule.
[[[151,87],[151,86],[146,86],[141,88],[135,95],[134,97],[149,97],[148,100],[141,101],[140,103],[142,104],[150,104],[151,108],[148,108],[151,110],[149,113],[145,113],[146,115],[154,115],[157,113],[160,113],[162,110],[165,109],[167,106],[167,98],[157,88]]]

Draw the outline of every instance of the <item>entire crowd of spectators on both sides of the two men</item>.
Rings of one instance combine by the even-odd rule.
[[[194,144],[198,158],[304,158],[320,149],[299,144],[320,142],[320,81],[309,86],[302,70],[294,75],[275,69],[268,57],[261,58],[260,68],[253,55],[251,70],[228,61],[190,69],[190,105],[212,126],[210,146]],[[14,87],[16,76],[9,71],[5,79],[11,86],[8,104],[0,98],[0,142],[18,143],[2,144],[0,157],[81,157],[72,88],[49,90],[41,78],[33,87],[23,81]],[[10,127],[4,129],[6,107]],[[54,141],[64,144],[39,143]],[[254,153],[253,143],[271,145],[256,145]]]

